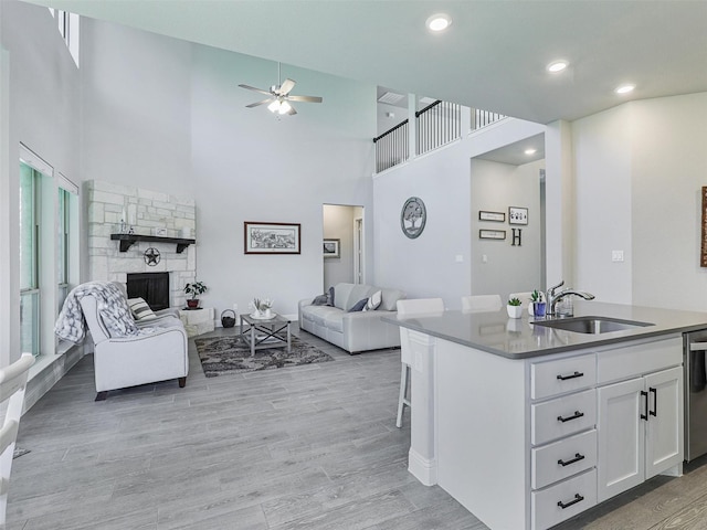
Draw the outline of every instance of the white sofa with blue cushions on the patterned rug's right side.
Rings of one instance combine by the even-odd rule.
[[[376,310],[349,312],[357,303],[381,292]],[[395,304],[405,294],[372,285],[340,283],[334,286],[334,306],[315,305],[314,298],[299,301],[299,329],[345,349],[349,353],[400,346],[397,326],[381,321],[382,316],[395,315]]]

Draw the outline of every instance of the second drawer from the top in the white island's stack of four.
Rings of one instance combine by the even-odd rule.
[[[530,442],[551,439],[592,428],[597,424],[597,391],[584,390],[530,406]]]

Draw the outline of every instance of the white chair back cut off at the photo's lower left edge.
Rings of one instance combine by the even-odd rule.
[[[6,522],[10,471],[24,405],[27,377],[33,363],[32,353],[22,353],[18,361],[0,370],[0,410],[3,415],[0,428],[0,524],[2,528]]]

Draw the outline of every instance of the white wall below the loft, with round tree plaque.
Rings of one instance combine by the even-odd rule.
[[[478,230],[473,233],[472,220],[478,211],[472,211],[469,160],[544,130],[506,119],[374,177],[378,285],[400,288],[409,298],[439,296],[447,308],[458,309],[461,297],[475,292],[472,271],[477,265],[472,242],[478,241]],[[400,230],[400,210],[411,195],[428,210],[424,232],[415,240]]]

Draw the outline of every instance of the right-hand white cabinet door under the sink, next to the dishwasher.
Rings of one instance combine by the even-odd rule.
[[[648,422],[645,438],[645,478],[683,462],[683,369],[645,377]]]

